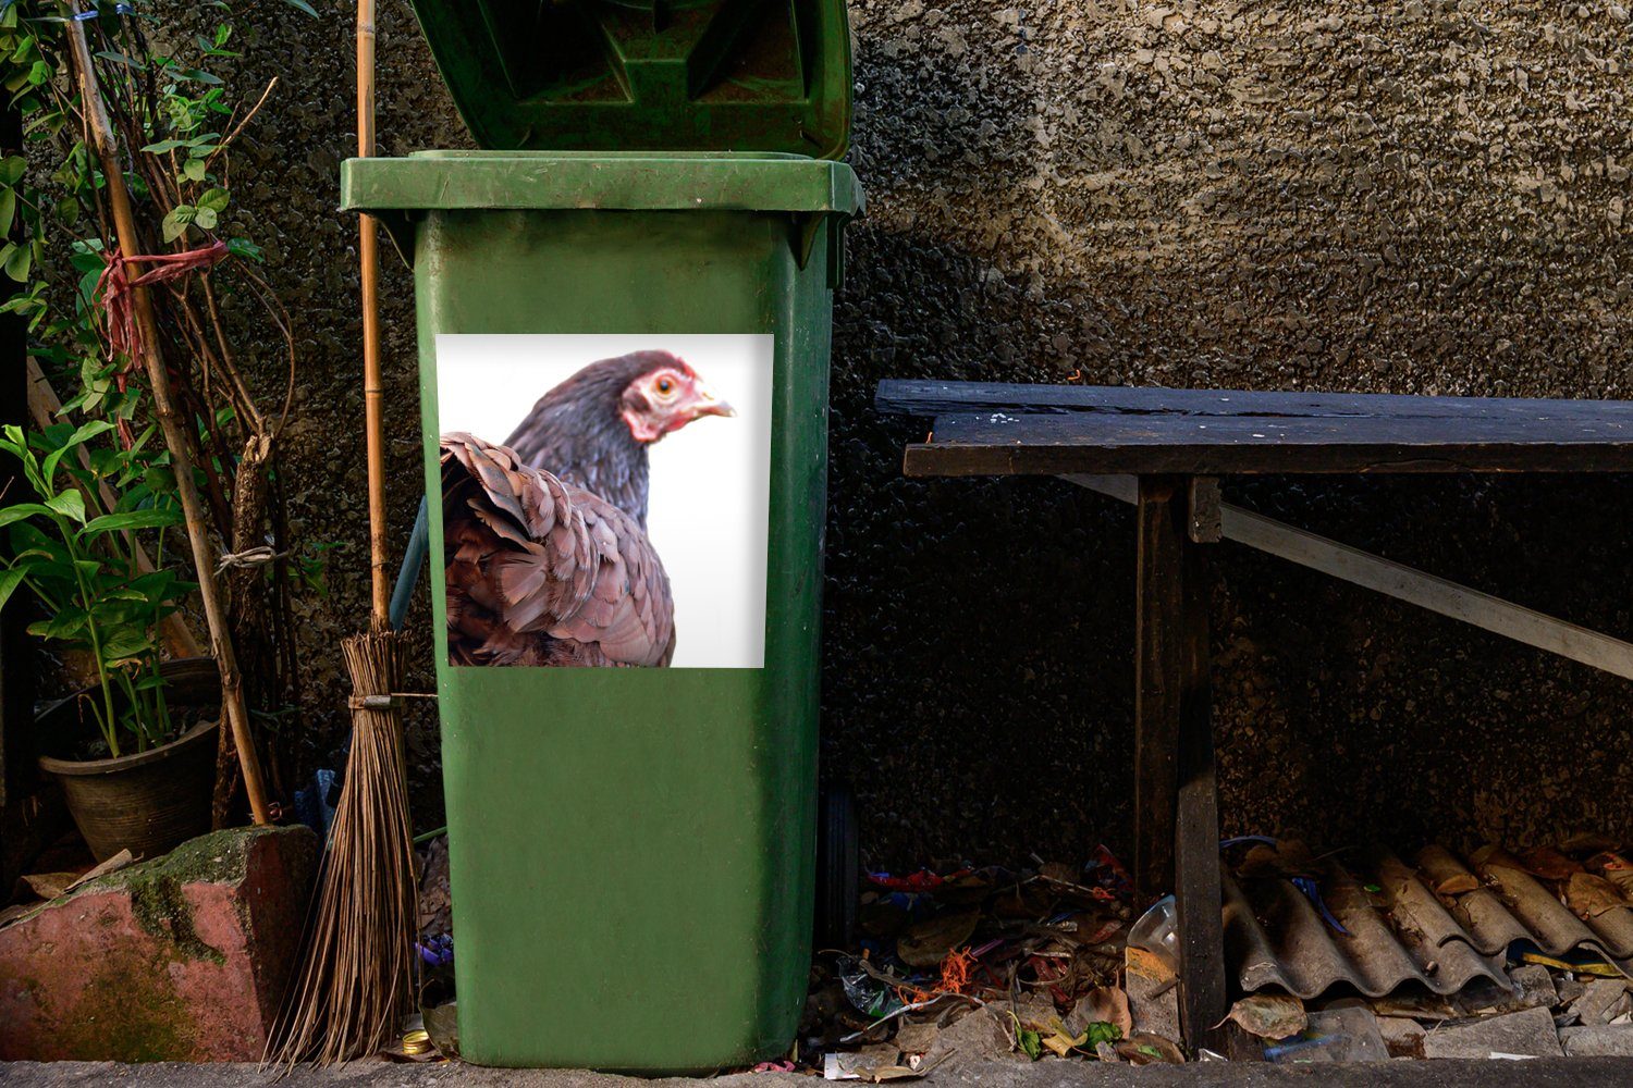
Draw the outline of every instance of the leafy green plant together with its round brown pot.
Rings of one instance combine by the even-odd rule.
[[[29,434],[8,426],[0,437],[38,496],[0,506],[0,607],[26,586],[46,612],[28,631],[95,675],[39,724],[41,767],[98,860],[121,848],[157,856],[209,830],[220,692],[217,679],[212,706],[207,661],[201,670],[160,657],[157,628],[194,589],[165,566],[163,530],[181,524],[175,481],[147,449],[152,427],[129,447],[93,445],[109,431],[93,419]]]

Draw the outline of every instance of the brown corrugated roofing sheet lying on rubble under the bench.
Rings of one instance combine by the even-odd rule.
[[[1347,933],[1284,876],[1226,878],[1228,962],[1248,992],[1279,987],[1306,1000],[1339,985],[1367,997],[1408,984],[1450,995],[1476,979],[1507,987],[1515,943],[1548,956],[1589,953],[1633,977],[1633,909],[1584,920],[1507,853],[1476,858],[1429,847],[1416,865],[1388,851],[1352,869],[1328,861],[1321,899]]]

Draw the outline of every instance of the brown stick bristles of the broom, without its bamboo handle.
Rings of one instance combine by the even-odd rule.
[[[402,646],[395,633],[358,635],[341,646],[356,697],[398,688]],[[300,974],[268,1039],[265,1062],[328,1065],[385,1047],[413,1006],[416,918],[402,723],[395,706],[358,705]]]

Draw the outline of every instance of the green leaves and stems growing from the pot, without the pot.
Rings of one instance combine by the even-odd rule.
[[[181,512],[168,468],[149,452],[152,427],[131,449],[91,445],[113,429],[105,419],[36,434],[3,429],[0,452],[21,463],[39,501],[0,506],[0,527],[10,532],[0,607],[26,586],[47,613],[29,633],[90,657],[98,677],[90,710],[108,754],[121,755],[171,739],[157,628],[194,586],[162,564],[144,569],[137,533],[150,532],[162,558],[162,530],[180,524]],[[85,496],[103,488],[116,501],[95,514]]]

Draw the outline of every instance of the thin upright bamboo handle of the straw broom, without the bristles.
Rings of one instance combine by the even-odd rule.
[[[358,0],[358,158],[374,157],[374,0]],[[369,458],[369,600],[376,631],[390,625],[385,569],[385,390],[380,383],[380,251],[372,215],[358,217],[363,287],[363,426]]]

